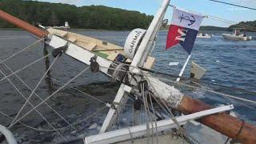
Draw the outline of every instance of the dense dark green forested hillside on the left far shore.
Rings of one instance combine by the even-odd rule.
[[[32,25],[63,26],[69,22],[72,28],[132,30],[146,29],[152,15],[141,14],[138,11],[122,10],[107,6],[74,6],[62,3],[0,0],[0,9],[12,14]],[[14,28],[10,23],[0,19],[0,27]]]

